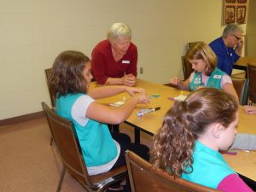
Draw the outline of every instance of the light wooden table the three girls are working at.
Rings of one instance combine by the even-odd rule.
[[[137,105],[137,108],[133,110],[131,116],[125,120],[125,123],[132,125],[135,128],[135,141],[140,142],[140,131],[144,131],[149,135],[154,135],[160,128],[164,116],[169,108],[174,103],[169,97],[179,96],[181,91],[168,87],[166,85],[154,84],[142,79],[137,79],[137,87],[143,87],[147,90],[149,96],[153,94],[160,94],[160,97],[151,99],[151,103],[148,105]],[[188,92],[183,91],[184,94]],[[113,102],[123,101],[128,99],[127,93],[119,94],[118,96],[112,96],[105,99],[101,99],[100,102],[109,104]],[[160,107],[160,110],[154,113],[148,113],[143,117],[137,117],[137,112],[143,108],[156,108]],[[239,125],[237,127],[240,133],[249,133],[256,135],[256,115],[249,115],[244,112],[243,108],[239,108]],[[224,154],[224,159],[228,164],[241,175],[256,181],[256,152],[251,151],[249,153],[239,151],[238,154]]]

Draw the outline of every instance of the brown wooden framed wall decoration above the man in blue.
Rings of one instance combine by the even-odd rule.
[[[246,23],[248,1],[249,0],[224,0],[224,25],[229,23]]]

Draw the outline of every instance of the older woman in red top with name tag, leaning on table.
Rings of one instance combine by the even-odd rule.
[[[136,84],[137,47],[131,43],[130,26],[119,22],[109,27],[107,39],[92,51],[91,67],[98,84]]]

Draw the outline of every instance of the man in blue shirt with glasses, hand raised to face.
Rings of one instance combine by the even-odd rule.
[[[210,47],[218,57],[217,67],[231,75],[233,63],[241,56],[243,29],[237,24],[228,24],[224,28],[222,37],[212,41]]]

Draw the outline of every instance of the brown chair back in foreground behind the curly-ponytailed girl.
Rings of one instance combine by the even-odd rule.
[[[210,192],[217,189],[207,188],[189,182],[180,177],[173,177],[167,172],[153,167],[132,151],[125,152],[132,192]]]

